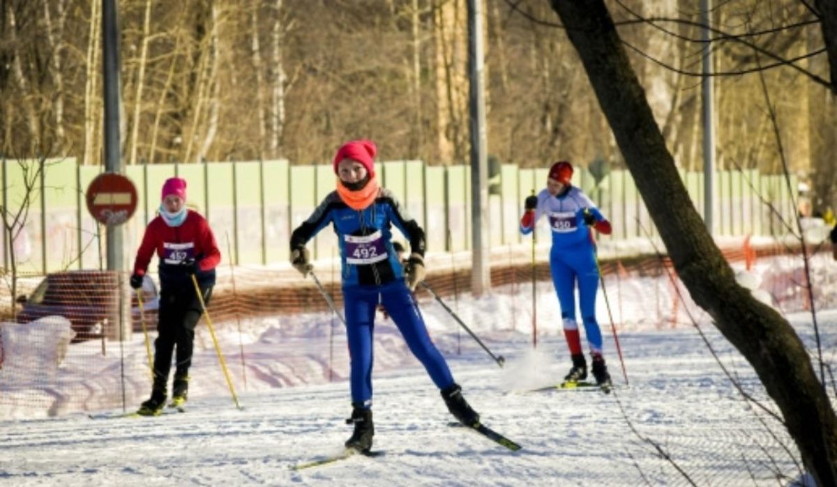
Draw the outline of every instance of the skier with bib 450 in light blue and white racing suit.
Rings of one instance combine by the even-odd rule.
[[[537,196],[526,197],[521,233],[531,233],[542,216],[549,219],[552,229],[549,267],[552,284],[561,303],[564,337],[573,358],[573,368],[564,381],[578,382],[587,378],[587,361],[584,360],[576,320],[575,285],[578,282],[578,301],[593,359],[593,377],[598,385],[609,387],[610,375],[602,356],[602,331],[596,320],[599,276],[592,228],[608,235],[611,227],[593,201],[570,183],[572,177],[573,165],[569,162],[558,161],[552,165],[547,187]]]

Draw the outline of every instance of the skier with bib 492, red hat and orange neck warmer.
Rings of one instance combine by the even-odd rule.
[[[448,364],[430,341],[412,290],[424,279],[424,230],[398,204],[392,192],[378,187],[372,141],[349,141],[334,156],[336,191],[320,203],[290,236],[291,264],[311,272],[306,243],[333,225],[340,246],[343,303],[351,360],[354,433],[347,448],[372,448],[372,333],[377,305],[392,317],[413,355],[424,365],[450,413],[461,423],[479,423],[477,414],[454,382]],[[409,239],[411,254],[402,265],[393,248],[393,224]]]

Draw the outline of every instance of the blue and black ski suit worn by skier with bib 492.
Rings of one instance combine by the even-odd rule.
[[[424,230],[410,218],[392,192],[381,188],[371,205],[349,208],[331,192],[296,228],[290,249],[300,249],[331,223],[340,246],[343,305],[351,359],[352,402],[372,404],[372,335],[380,303],[393,318],[413,355],[424,365],[436,387],[454,385],[444,357],[430,341],[419,306],[404,281],[403,266],[393,249],[393,224],[409,240],[413,254],[424,257]]]

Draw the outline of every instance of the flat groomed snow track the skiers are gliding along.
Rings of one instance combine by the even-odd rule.
[[[795,318],[815,350],[804,325],[810,316]],[[833,361],[837,311],[819,319],[824,356]],[[775,410],[747,362],[713,327],[703,331],[747,393]],[[500,369],[479,349],[452,354],[455,336],[434,333],[465,397],[486,425],[521,443],[518,452],[449,428],[439,392],[409,359],[374,377],[373,449],[385,452],[379,458],[290,469],[336,454],[351,434],[344,423],[348,383],[340,378],[239,394],[240,411],[228,395],[193,398],[187,413],[158,418],[71,413],[6,421],[0,423],[0,484],[689,485],[629,423],[698,485],[788,485],[799,477],[787,452],[798,454],[784,428],[742,399],[694,328],[620,335],[627,386],[613,337],[606,326],[603,332],[615,384],[610,395],[512,390],[512,384],[544,386],[566,373],[566,345],[557,335],[544,337],[537,351],[524,340],[506,342],[495,351],[507,359]]]

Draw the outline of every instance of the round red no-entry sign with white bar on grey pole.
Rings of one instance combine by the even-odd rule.
[[[87,210],[105,225],[119,225],[128,221],[136,211],[136,187],[125,176],[104,172],[97,176],[85,193]]]

